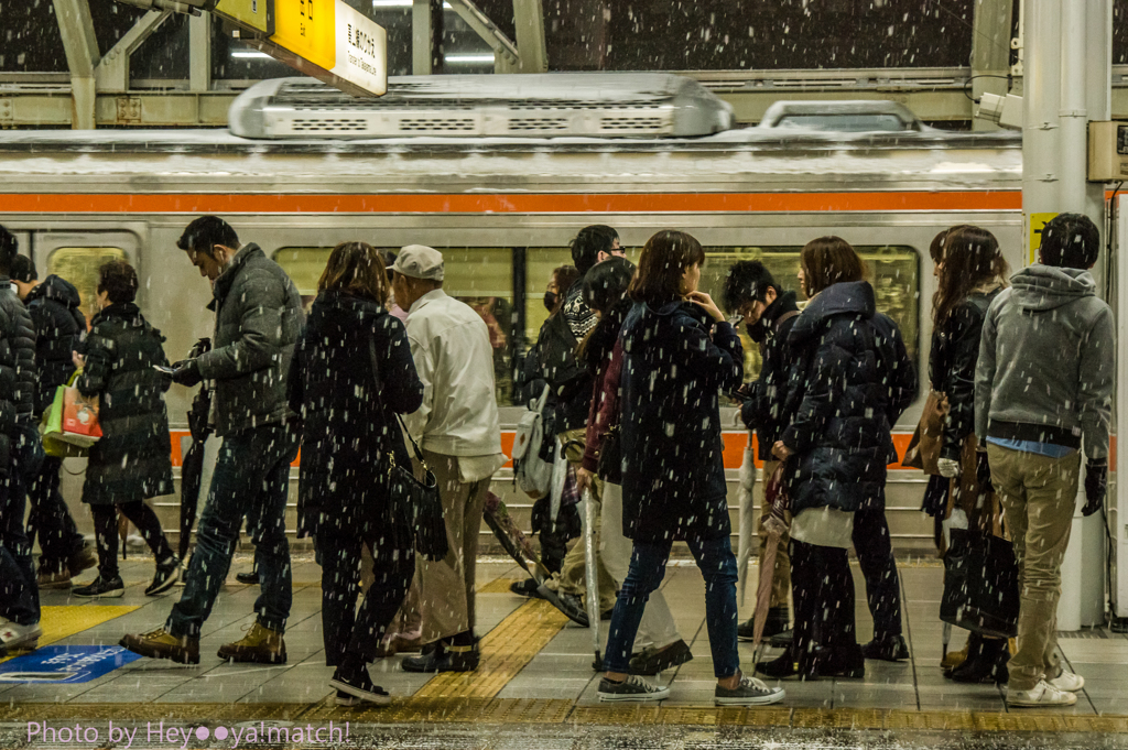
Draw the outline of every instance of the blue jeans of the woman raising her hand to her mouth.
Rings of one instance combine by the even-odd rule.
[[[689,552],[705,577],[705,623],[713,651],[713,673],[716,678],[732,677],[740,671],[737,651],[737,557],[729,537],[687,539]],[[634,645],[646,600],[666,576],[666,561],[671,541],[634,544],[631,570],[619,589],[611,614],[603,668],[608,672],[629,672],[631,648]]]

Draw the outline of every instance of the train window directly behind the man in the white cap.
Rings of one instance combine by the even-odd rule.
[[[399,250],[394,248],[393,253]],[[490,329],[499,406],[512,403],[513,254],[508,247],[437,247],[443,255],[443,290],[475,309]],[[283,247],[274,261],[293,279],[308,308],[317,295],[332,247]]]

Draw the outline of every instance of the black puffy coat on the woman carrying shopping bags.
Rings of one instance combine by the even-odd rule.
[[[102,439],[90,448],[82,502],[131,503],[173,492],[165,391],[165,337],[133,302],[111,305],[90,321],[86,367],[74,386],[98,397]]]

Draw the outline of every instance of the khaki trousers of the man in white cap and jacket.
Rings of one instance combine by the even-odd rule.
[[[450,552],[438,562],[415,558],[415,588],[423,616],[423,643],[449,638],[474,629],[474,574],[478,556],[478,530],[485,510],[490,478],[464,483],[458,479],[458,458],[423,451],[439,482],[439,497],[447,517]]]

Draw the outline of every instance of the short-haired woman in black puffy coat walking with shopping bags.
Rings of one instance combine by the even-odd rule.
[[[168,591],[179,579],[179,561],[148,497],[173,492],[173,464],[168,443],[165,391],[169,379],[157,371],[168,367],[165,337],[149,325],[133,303],[138,275],[124,261],[98,270],[102,312],[90,321],[86,358],[74,355],[82,373],[74,386],[83,397],[100,402],[102,439],[90,448],[82,485],[82,502],[94,514],[98,541],[98,577],[74,589],[76,597],[121,597],[117,574],[117,514],[136,526],[153,556],[157,574],[149,595]]]

